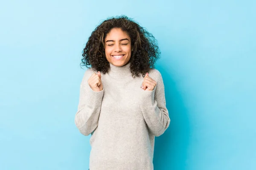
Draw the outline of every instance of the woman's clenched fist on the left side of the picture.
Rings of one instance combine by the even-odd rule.
[[[93,91],[102,91],[103,85],[101,81],[101,74],[99,71],[97,74],[93,73],[87,82]]]

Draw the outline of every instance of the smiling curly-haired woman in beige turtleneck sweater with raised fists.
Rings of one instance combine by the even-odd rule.
[[[91,134],[90,170],[154,169],[154,137],[170,123],[154,69],[159,54],[154,37],[126,16],[105,20],[89,37],[75,123]]]

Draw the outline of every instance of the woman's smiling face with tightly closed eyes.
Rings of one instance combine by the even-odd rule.
[[[121,28],[113,28],[105,38],[105,54],[108,62],[121,67],[131,59],[131,38]]]

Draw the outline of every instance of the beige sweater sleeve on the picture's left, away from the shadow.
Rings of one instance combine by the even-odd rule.
[[[85,71],[80,85],[79,105],[75,116],[75,124],[79,131],[88,136],[98,126],[104,88],[102,91],[93,91],[87,83],[92,71]]]

